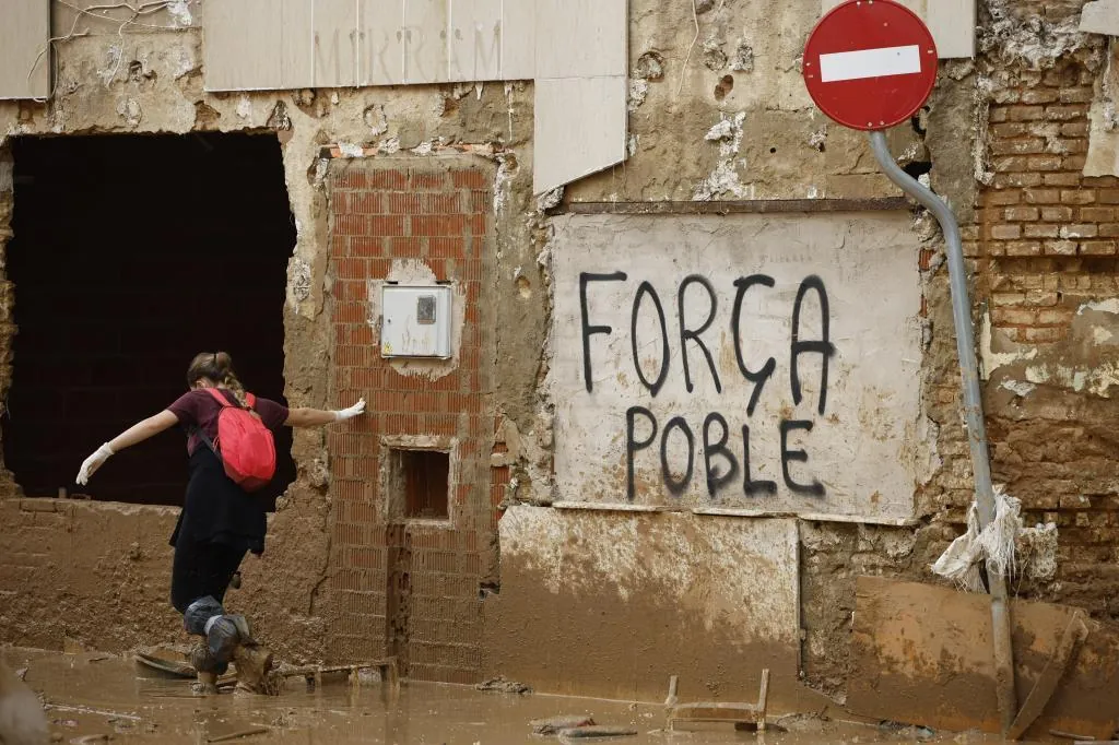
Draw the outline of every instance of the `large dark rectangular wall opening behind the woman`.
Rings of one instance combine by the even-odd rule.
[[[8,469],[29,497],[180,504],[177,430],[117,454],[97,446],[186,392],[200,351],[233,355],[283,400],[283,305],[295,229],[280,144],[252,134],[18,138],[7,255],[19,327],[4,421]],[[270,506],[294,479],[276,433]]]

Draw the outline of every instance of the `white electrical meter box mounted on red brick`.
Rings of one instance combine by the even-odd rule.
[[[453,356],[449,285],[386,284],[380,310],[382,357]]]

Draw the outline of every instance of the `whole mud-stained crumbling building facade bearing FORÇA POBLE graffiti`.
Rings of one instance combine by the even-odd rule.
[[[231,592],[280,657],[394,654],[414,678],[649,700],[669,675],[749,700],[769,667],[782,705],[841,697],[856,576],[933,582],[972,485],[939,230],[862,134],[811,106],[798,65],[819,1],[631,0],[626,161],[544,195],[534,164],[563,153],[542,144],[530,75],[207,92],[204,4],[138,23],[56,2],[49,98],[0,101],[0,392],[20,385],[13,345],[35,328],[17,328],[31,301],[9,254],[57,249],[13,227],[36,188],[20,142],[267,138],[293,230],[283,302],[262,311],[282,315],[275,395],[370,405],[295,433],[267,549]],[[1082,4],[979,2],[976,57],[942,62],[888,138],[962,225],[996,480],[1060,531],[1055,576],[1019,591],[1108,619],[1119,65],[1113,38],[1080,30]],[[91,211],[158,230],[144,205],[170,192],[151,180]],[[177,219],[213,218],[191,204]],[[258,241],[228,238],[231,210],[207,235]],[[103,295],[123,314],[121,282]],[[450,287],[453,355],[382,355],[394,283]],[[168,328],[160,349],[185,366],[197,328]],[[143,350],[122,355],[104,384],[117,402],[144,370]],[[67,404],[90,450],[115,434],[79,415],[110,405],[93,400]],[[442,502],[413,499],[417,472],[445,474]],[[0,641],[179,639],[173,499],[90,492],[2,471]]]

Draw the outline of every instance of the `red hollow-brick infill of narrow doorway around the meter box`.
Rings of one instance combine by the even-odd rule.
[[[333,396],[369,402],[369,414],[329,436],[333,499],[330,592],[336,659],[397,654],[415,679],[470,682],[481,663],[479,585],[496,518],[488,459],[493,415],[492,321],[483,277],[492,262],[492,176],[454,159],[339,161],[331,199]],[[453,371],[408,376],[380,357],[368,322],[369,283],[394,260],[420,260],[466,299]],[[376,321],[377,319],[375,319]],[[387,513],[385,438],[455,438],[451,525]]]

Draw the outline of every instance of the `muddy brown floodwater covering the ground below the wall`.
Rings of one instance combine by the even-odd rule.
[[[735,732],[728,725],[666,732],[665,709],[650,704],[483,692],[468,686],[405,682],[393,699],[379,685],[327,681],[308,690],[295,680],[276,697],[227,692],[196,695],[189,680],[147,677],[130,658],[94,653],[63,654],[0,650],[12,668],[27,668],[27,685],[47,705],[55,742],[178,743],[229,742],[326,745],[385,745],[564,742],[532,734],[529,722],[561,715],[592,715],[602,725],[629,726],[637,736],[571,742],[760,743],[819,745],[916,742],[912,730],[883,732],[873,726],[777,717],[786,732]],[[247,734],[260,730],[257,734]],[[90,736],[107,735],[109,739]],[[241,735],[241,736],[237,736]],[[231,739],[223,739],[234,736]],[[941,743],[993,743],[979,735],[938,735]]]

